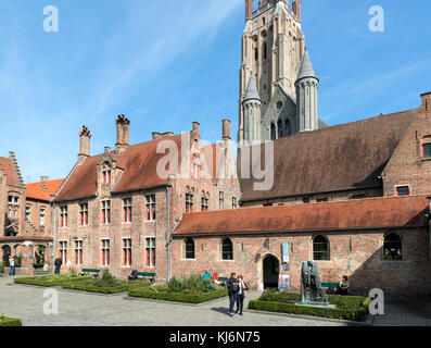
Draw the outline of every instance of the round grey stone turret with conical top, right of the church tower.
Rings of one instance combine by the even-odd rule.
[[[305,49],[297,75],[296,86],[296,133],[319,128],[318,88],[319,79],[314,72],[312,60]]]

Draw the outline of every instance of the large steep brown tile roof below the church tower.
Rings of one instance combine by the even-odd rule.
[[[253,184],[258,181],[253,177],[241,179],[238,161],[241,200],[381,187],[379,175],[418,111],[380,115],[275,140],[270,190],[255,190]],[[264,154],[262,150],[262,163]]]

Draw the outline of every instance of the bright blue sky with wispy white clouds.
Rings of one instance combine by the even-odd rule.
[[[43,30],[51,4],[59,33]],[[368,29],[375,4],[384,33]],[[330,125],[416,108],[431,90],[430,1],[303,0],[302,12]],[[236,138],[243,28],[243,0],[0,0],[0,156],[15,151],[25,181],[64,177],[83,124],[100,153],[121,113],[131,144],[192,121],[216,141],[223,119]]]

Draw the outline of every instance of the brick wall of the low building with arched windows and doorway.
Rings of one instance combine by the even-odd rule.
[[[322,282],[340,282],[350,277],[351,287],[366,295],[370,288],[381,288],[386,295],[429,294],[431,264],[428,259],[428,231],[426,228],[398,229],[403,240],[403,261],[383,260],[383,239],[390,231],[357,231],[321,233],[330,243],[330,261],[317,261]],[[275,256],[281,260],[281,245],[290,243],[289,271],[292,287],[300,289],[301,265],[313,260],[312,233],[280,235],[231,236],[233,261],[221,260],[221,237],[197,237],[195,260],[185,260],[185,238],[176,237],[173,244],[174,275],[202,274],[217,271],[219,276],[231,272],[242,274],[253,288],[263,288],[263,260]]]

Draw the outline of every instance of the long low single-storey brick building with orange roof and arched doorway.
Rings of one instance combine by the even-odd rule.
[[[315,260],[322,282],[347,275],[358,294],[381,288],[385,295],[428,295],[429,222],[428,196],[187,214],[173,235],[174,275],[234,271],[263,289],[288,274],[299,290],[302,262]]]

